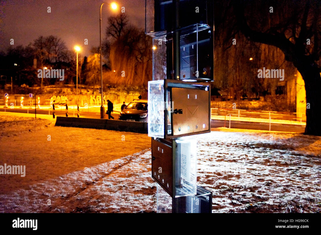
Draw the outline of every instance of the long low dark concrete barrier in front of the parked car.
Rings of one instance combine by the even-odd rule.
[[[66,127],[81,127],[81,128],[94,128],[94,129],[106,129],[106,130],[117,130],[117,131],[130,131],[130,132],[137,132],[137,133],[148,133],[147,122],[128,122],[128,121],[109,120],[109,119],[57,116],[55,125],[66,126]]]

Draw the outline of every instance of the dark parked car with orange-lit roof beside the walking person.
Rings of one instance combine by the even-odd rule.
[[[133,100],[120,113],[119,120],[147,122],[148,100]]]

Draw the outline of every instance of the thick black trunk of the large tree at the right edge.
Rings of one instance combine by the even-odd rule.
[[[321,77],[317,68],[309,66],[299,72],[305,83],[307,126],[304,134],[321,136]]]

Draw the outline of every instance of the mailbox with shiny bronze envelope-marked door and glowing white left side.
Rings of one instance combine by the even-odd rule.
[[[210,83],[148,82],[148,136],[177,138],[210,132]]]

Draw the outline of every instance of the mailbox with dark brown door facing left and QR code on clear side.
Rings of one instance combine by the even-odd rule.
[[[153,139],[152,178],[171,196],[196,194],[196,140]]]

